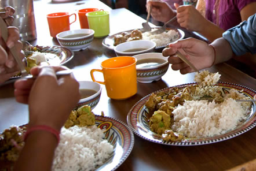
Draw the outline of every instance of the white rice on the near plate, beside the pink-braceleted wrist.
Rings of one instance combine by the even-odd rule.
[[[96,125],[63,127],[52,170],[94,170],[103,165],[113,152],[113,146],[103,137],[103,131]]]

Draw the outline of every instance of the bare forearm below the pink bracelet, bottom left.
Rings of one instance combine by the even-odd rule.
[[[25,146],[14,170],[51,170],[56,137],[47,131],[33,131],[25,140]]]

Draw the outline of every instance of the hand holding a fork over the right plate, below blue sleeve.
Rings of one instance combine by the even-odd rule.
[[[169,57],[168,61],[173,70],[180,70],[181,74],[194,72],[185,62],[178,58],[175,53],[179,50],[185,57],[200,70],[208,68],[214,63],[214,50],[206,42],[198,39],[188,38],[179,40],[163,50],[163,56]]]

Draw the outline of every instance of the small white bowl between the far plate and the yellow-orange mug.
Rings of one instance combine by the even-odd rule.
[[[142,53],[153,52],[155,47],[156,47],[156,43],[151,40],[134,40],[134,41],[118,44],[118,46],[115,46],[114,50],[117,56],[132,56],[132,55],[137,55]],[[146,50],[125,52],[126,50],[131,50],[131,49],[146,49]]]

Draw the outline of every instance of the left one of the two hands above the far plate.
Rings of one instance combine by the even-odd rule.
[[[151,16],[155,20],[160,22],[165,23],[176,15],[176,12],[173,9],[171,9],[171,7],[166,2],[147,1],[147,11],[149,9],[149,6],[151,6]]]

